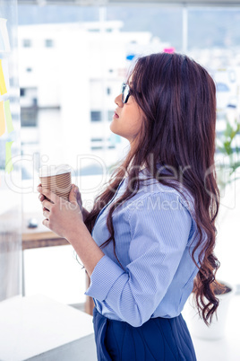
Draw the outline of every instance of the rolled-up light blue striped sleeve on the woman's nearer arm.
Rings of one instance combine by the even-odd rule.
[[[192,217],[174,193],[154,193],[129,208],[130,263],[122,269],[106,255],[90,277],[86,295],[141,326],[167,292],[189,239]]]

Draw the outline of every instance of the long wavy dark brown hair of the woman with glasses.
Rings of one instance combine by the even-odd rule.
[[[181,54],[140,57],[130,75],[133,75],[131,95],[144,113],[141,130],[134,139],[134,147],[112,174],[107,189],[96,198],[85,224],[91,232],[100,210],[113,198],[127,175],[131,187],[127,187],[124,195],[109,207],[107,228],[110,236],[101,245],[104,247],[113,242],[116,255],[112,215],[116,207],[132,198],[140,188],[141,167],[146,166],[151,176],[162,184],[179,190],[184,186],[194,199],[193,217],[198,231],[192,258],[199,272],[193,292],[198,311],[209,324],[219,305],[214,292],[219,287],[215,279],[219,260],[214,255],[215,219],[219,211],[214,166],[215,84],[202,66]],[[159,172],[159,163],[165,165],[162,172]],[[173,170],[176,181],[173,181]]]

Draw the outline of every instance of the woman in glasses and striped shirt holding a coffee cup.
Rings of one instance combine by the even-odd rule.
[[[194,286],[206,323],[219,304],[215,85],[189,57],[153,54],[137,60],[115,102],[110,128],[129,154],[90,213],[74,185],[70,203],[39,187],[43,224],[90,276],[99,360],[195,360],[184,303]]]

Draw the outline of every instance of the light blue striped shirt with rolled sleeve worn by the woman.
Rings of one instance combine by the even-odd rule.
[[[197,234],[193,198],[186,191],[183,197],[176,189],[146,180],[148,175],[141,171],[139,191],[113,213],[116,255],[124,269],[110,242],[102,249],[105,256],[93,270],[85,293],[94,298],[99,313],[134,327],[150,317],[179,315],[198,272],[190,255]],[[126,187],[124,179],[114,200]],[[109,237],[107,213],[112,201],[101,210],[92,230],[99,246]]]

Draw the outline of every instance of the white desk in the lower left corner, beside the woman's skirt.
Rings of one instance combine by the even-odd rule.
[[[92,318],[45,295],[0,303],[0,359],[97,361]]]

